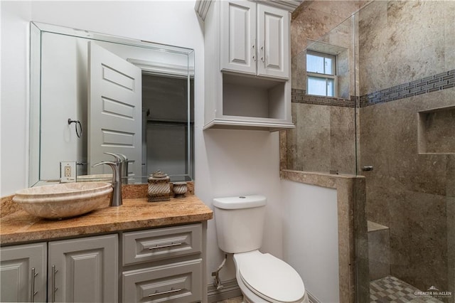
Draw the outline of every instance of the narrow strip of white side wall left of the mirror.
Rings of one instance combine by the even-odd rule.
[[[28,2],[0,1],[0,196],[28,184]]]

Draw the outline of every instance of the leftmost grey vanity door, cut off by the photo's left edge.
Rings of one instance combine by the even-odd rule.
[[[46,243],[0,248],[0,302],[45,302]]]

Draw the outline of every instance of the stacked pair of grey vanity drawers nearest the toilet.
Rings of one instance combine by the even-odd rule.
[[[123,234],[123,302],[203,302],[202,224]]]

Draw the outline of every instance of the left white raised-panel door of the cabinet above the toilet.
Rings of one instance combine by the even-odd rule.
[[[256,4],[221,3],[221,70],[256,75]]]

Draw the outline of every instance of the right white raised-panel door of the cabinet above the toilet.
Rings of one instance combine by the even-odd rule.
[[[289,79],[289,11],[257,5],[257,74]]]

